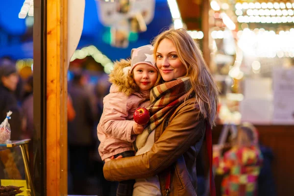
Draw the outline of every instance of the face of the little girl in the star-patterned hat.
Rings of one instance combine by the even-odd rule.
[[[151,89],[158,77],[158,71],[147,64],[136,65],[133,73],[134,80],[142,91]]]

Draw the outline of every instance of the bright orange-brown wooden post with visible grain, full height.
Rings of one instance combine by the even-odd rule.
[[[47,196],[67,195],[67,3],[47,1]]]

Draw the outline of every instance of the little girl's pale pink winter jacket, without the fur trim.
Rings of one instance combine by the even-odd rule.
[[[132,142],[136,139],[136,135],[131,135],[134,112],[138,107],[150,105],[149,91],[127,96],[117,84],[112,84],[110,93],[103,98],[103,113],[97,127],[102,160],[133,149]]]

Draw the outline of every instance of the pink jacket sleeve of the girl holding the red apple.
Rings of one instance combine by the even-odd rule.
[[[114,138],[133,142],[136,138],[131,135],[134,122],[127,120],[131,99],[123,93],[111,93],[103,102],[103,115],[99,123],[104,132]]]

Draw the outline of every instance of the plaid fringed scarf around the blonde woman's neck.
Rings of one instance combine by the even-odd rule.
[[[143,147],[148,135],[184,101],[191,89],[189,77],[175,79],[154,87],[150,92],[151,105],[147,108],[150,121],[133,143],[136,151]]]

